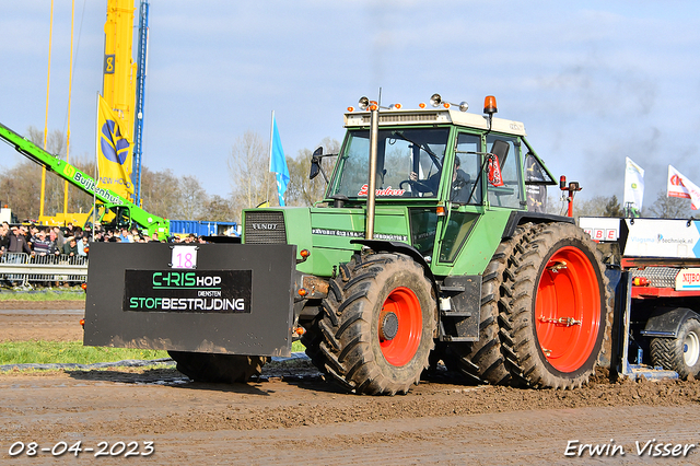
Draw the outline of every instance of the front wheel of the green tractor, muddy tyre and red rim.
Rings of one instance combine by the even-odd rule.
[[[399,254],[355,254],[343,270],[322,303],[319,369],[358,394],[406,394],[433,348],[430,280]]]

